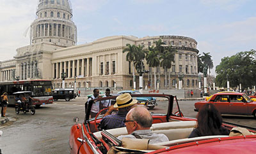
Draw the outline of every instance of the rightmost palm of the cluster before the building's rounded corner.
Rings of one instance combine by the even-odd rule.
[[[166,50],[164,50],[164,53],[161,53],[160,59],[162,60],[160,65],[164,69],[164,77],[165,77],[165,87],[167,89],[167,69],[170,69],[172,67],[172,62],[174,62],[174,54],[175,50],[172,48],[172,46],[168,46]],[[170,85],[170,71],[169,71],[169,85]]]

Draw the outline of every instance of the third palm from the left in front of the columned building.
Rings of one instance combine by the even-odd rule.
[[[155,84],[155,89],[156,89],[156,67],[159,66],[160,60],[158,58],[158,52],[156,50],[154,50],[154,46],[152,46],[152,48],[148,48],[146,60],[147,60],[147,64],[149,67],[155,67],[154,84]]]

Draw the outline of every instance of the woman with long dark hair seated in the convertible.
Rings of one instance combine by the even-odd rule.
[[[216,135],[228,136],[228,129],[221,125],[222,118],[218,109],[212,103],[204,104],[197,114],[196,128],[193,129],[189,138]]]

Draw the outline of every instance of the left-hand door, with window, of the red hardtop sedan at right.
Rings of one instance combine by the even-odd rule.
[[[229,113],[228,95],[217,95],[213,101],[213,104],[220,111],[220,113]]]

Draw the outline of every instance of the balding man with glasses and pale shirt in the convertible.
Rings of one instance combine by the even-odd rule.
[[[169,141],[164,134],[156,134],[150,130],[153,118],[145,106],[136,106],[132,108],[126,115],[125,126],[128,135],[118,136],[117,139],[122,140],[123,137],[149,139],[149,144],[161,143]]]

